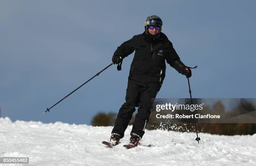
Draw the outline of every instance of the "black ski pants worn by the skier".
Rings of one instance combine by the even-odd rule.
[[[149,116],[151,114],[152,104],[151,98],[155,98],[157,92],[160,90],[160,85],[153,86],[141,86],[137,84],[129,84],[126,89],[125,103],[119,109],[115,125],[112,130],[113,133],[124,136],[125,129],[127,128],[129,121],[132,118],[133,112],[138,108],[138,113],[135,116],[133,122],[132,133],[139,135],[141,138],[145,133],[144,130],[148,123]]]

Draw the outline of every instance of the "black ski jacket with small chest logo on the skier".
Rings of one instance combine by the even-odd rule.
[[[165,77],[165,60],[182,73],[184,64],[164,33],[160,32],[156,39],[150,38],[145,32],[135,35],[131,40],[124,42],[115,51],[113,56],[123,58],[132,54],[135,50],[133,62],[131,63],[128,80],[143,86],[161,86]],[[180,62],[179,65],[173,65]]]

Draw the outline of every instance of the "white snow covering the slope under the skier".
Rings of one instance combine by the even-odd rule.
[[[36,121],[15,121],[0,118],[0,157],[29,157],[33,166],[255,166],[256,134],[219,136],[146,130],[141,144],[126,150],[128,126],[121,144],[105,148],[112,130],[108,127],[65,124],[44,124]],[[15,165],[15,164],[1,164]],[[18,164],[16,164],[18,165]],[[21,164],[20,164],[21,165]]]

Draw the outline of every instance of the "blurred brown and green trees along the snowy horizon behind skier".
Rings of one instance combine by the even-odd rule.
[[[236,122],[238,119],[238,123],[197,123],[197,131],[203,133],[210,133],[210,134],[219,134],[219,135],[247,135],[247,134],[255,134],[256,133],[256,123],[251,123],[251,121],[255,121],[256,111],[252,108],[255,108],[253,103],[246,103],[243,105],[238,105],[231,111],[226,111],[223,104],[218,101],[216,102],[212,109],[210,107],[204,107],[200,114],[220,114],[221,116],[231,117],[231,120]],[[249,110],[249,112],[241,113],[242,110]],[[194,123],[174,123],[172,121],[157,119],[156,114],[166,114],[165,111],[152,111],[151,116],[147,125],[148,130],[154,129],[164,129],[164,130],[172,130],[172,131],[179,131],[179,132],[195,132],[195,124]],[[136,112],[135,112],[136,114]],[[133,124],[134,115],[129,125]],[[115,118],[117,113],[115,112],[98,112],[91,121],[92,126],[113,126],[115,123]],[[233,119],[232,119],[233,118]],[[236,119],[234,119],[236,118]],[[239,121],[243,121],[243,123],[239,123]],[[245,122],[250,123],[245,123]],[[232,121],[231,121],[232,122]],[[255,121],[256,122],[256,121]]]

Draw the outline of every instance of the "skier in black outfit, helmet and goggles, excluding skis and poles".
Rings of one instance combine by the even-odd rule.
[[[156,15],[148,16],[145,20],[145,32],[135,35],[124,42],[115,51],[112,62],[121,68],[123,59],[135,55],[131,63],[126,89],[125,103],[119,109],[115,125],[111,133],[110,144],[115,146],[123,138],[125,129],[138,107],[135,116],[129,146],[137,146],[151,114],[151,98],[155,98],[165,77],[165,60],[171,67],[186,77],[191,77],[191,70],[179,59],[172,42],[161,32],[162,20]]]

